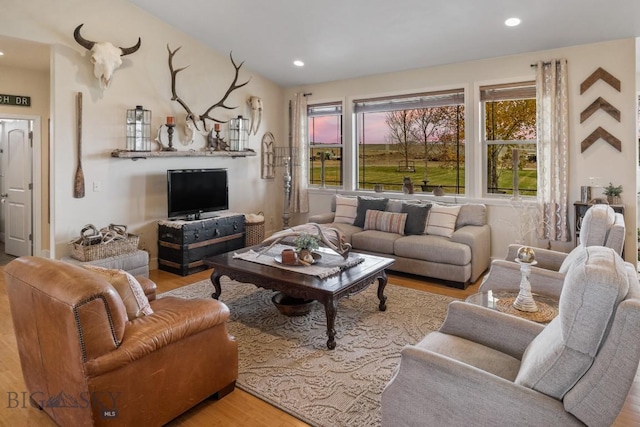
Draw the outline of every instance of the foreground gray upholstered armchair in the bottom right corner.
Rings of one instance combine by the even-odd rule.
[[[609,426],[640,358],[640,286],[612,249],[582,248],[544,327],[464,302],[402,350],[383,426]]]

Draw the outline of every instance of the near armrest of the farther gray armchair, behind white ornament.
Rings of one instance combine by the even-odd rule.
[[[538,266],[531,267],[529,283],[534,293],[560,298],[564,274],[553,270],[545,270]],[[520,289],[522,273],[520,266],[512,261],[500,259],[491,262],[491,269],[480,284],[479,292],[501,290],[517,292]]]

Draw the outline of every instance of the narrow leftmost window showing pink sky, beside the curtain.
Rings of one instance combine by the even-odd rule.
[[[307,107],[309,126],[309,184],[342,186],[342,104]]]

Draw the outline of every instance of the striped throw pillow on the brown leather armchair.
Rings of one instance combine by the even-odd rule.
[[[96,265],[84,265],[83,267],[99,274],[116,289],[122,298],[129,320],[153,314],[153,309],[149,305],[142,285],[131,274],[124,270],[112,270]]]

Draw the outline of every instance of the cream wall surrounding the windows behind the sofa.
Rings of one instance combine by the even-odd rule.
[[[492,226],[492,256],[503,257],[508,243],[513,242],[513,228],[510,226],[513,210],[503,201],[482,199],[482,161],[479,134],[478,87],[484,84],[535,79],[530,64],[539,60],[566,58],[569,64],[569,105],[570,105],[570,201],[580,200],[580,186],[589,185],[589,177],[600,177],[601,184],[609,181],[623,186],[622,200],[626,209],[627,241],[626,258],[636,261],[636,165],[638,159],[636,138],[636,73],[635,40],[617,40],[606,43],[575,46],[523,55],[493,58],[451,64],[440,67],[423,68],[398,73],[376,75],[358,79],[336,81],[285,90],[285,102],[296,92],[311,92],[309,103],[325,100],[345,101],[344,129],[351,129],[351,100],[359,97],[407,93],[441,88],[464,87],[466,89],[466,137],[467,137],[467,197],[452,201],[482,201],[489,205],[488,218]],[[383,60],[383,58],[381,58]],[[613,74],[621,81],[621,92],[615,91],[602,81],[596,83],[585,94],[580,95],[579,86],[598,67]],[[600,111],[580,124],[580,112],[598,96],[602,96],[621,110],[618,123],[608,114]],[[602,140],[597,141],[584,153],[580,142],[598,126],[622,141],[622,152],[618,152]],[[352,135],[345,131],[345,145],[351,143]],[[325,211],[328,207],[327,193],[314,192],[311,196],[311,213]],[[573,218],[573,209],[571,209]],[[304,216],[296,217],[303,221]],[[573,223],[573,220],[572,220]],[[570,244],[552,244],[557,249],[568,250]]]

